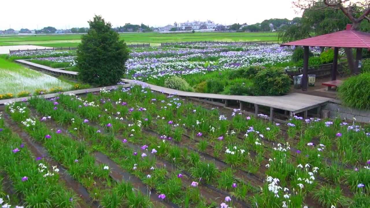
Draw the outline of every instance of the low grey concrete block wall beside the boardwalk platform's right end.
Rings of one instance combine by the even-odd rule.
[[[370,110],[358,110],[343,106],[340,101],[330,101],[322,110],[329,111],[330,118],[340,117],[342,119],[354,120],[357,122],[370,123]]]

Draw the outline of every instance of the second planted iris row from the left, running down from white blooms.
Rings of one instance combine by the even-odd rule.
[[[24,103],[16,104],[19,107],[22,105]],[[25,106],[20,108],[26,109]],[[73,178],[94,193],[92,194],[94,200],[101,199],[105,207],[116,207],[117,204],[128,204],[128,206],[136,204],[147,207],[151,204],[145,195],[132,189],[130,184],[112,181],[108,176],[109,167],[104,165],[95,166],[95,159],[90,153],[91,150],[85,148],[83,143],[72,140],[67,135],[61,134],[60,131],[54,130],[55,132],[51,132],[43,123],[48,119],[47,117],[40,121],[32,120],[32,118],[27,118],[29,117],[28,110],[20,113],[13,111],[13,109],[15,109],[14,104],[7,105],[7,110],[12,119],[16,121],[25,120],[20,126],[28,131],[34,139],[42,142],[51,156],[65,165]],[[13,113],[11,113],[12,111]],[[124,187],[126,188],[124,189]],[[112,204],[111,199],[114,199],[116,204]]]

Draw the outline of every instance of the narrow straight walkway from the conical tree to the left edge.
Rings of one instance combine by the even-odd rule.
[[[107,90],[110,90],[110,89],[115,89],[115,88],[118,88],[118,87],[130,87],[130,86],[131,86],[131,84],[123,84],[123,85],[118,84],[118,85],[111,85],[111,86],[107,86],[107,87],[95,87],[95,88],[90,88],[90,89],[66,91],[66,92],[62,92],[61,94],[68,95],[68,94],[72,93],[72,94],[77,95],[77,94],[99,92],[102,88],[107,88]],[[36,95],[36,97],[53,98],[53,97],[58,97],[58,95],[59,95],[59,93],[51,93],[51,94],[45,94],[45,95]],[[17,98],[10,98],[10,99],[6,99],[6,100],[0,100],[0,105],[4,105],[5,103],[9,103],[10,101],[11,102],[27,101],[31,97],[35,97],[35,96],[17,97]]]

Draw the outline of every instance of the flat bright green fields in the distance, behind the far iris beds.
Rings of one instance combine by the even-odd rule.
[[[121,33],[127,44],[159,43],[181,41],[277,41],[276,33]],[[35,36],[0,36],[0,46],[37,45],[46,47],[75,47],[80,43],[81,35],[35,35]]]

